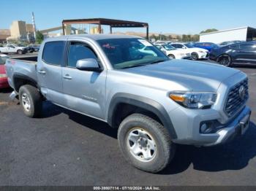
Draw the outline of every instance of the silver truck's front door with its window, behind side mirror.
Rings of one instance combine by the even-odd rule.
[[[65,106],[76,112],[104,119],[106,70],[81,71],[76,69],[77,61],[98,55],[86,42],[69,41],[67,66],[62,69]],[[101,66],[102,67],[102,66]]]

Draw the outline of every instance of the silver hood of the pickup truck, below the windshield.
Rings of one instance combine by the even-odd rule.
[[[165,61],[124,69],[124,71],[138,74],[142,76],[141,79],[143,77],[154,78],[143,80],[143,83],[148,82],[147,86],[154,84],[161,89],[214,92],[217,92],[219,85],[225,79],[241,72],[214,63],[185,60]]]

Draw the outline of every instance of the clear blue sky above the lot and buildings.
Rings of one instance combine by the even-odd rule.
[[[31,23],[31,12],[39,30],[61,26],[64,19],[93,17],[146,22],[149,32],[162,34],[198,34],[207,28],[256,28],[255,0],[0,0],[0,5],[1,29],[10,28],[12,20]],[[124,30],[145,31],[114,31]]]

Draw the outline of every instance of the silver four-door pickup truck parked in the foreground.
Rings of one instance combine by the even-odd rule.
[[[6,67],[10,96],[27,116],[39,116],[46,99],[107,122],[118,128],[124,157],[143,171],[165,168],[176,144],[223,144],[249,127],[246,74],[170,60],[137,36],[46,39],[37,62],[10,59]]]

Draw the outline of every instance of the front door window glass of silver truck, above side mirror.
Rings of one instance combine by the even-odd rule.
[[[75,68],[79,60],[86,58],[94,58],[97,60],[97,55],[94,53],[91,47],[83,42],[70,42],[67,66]]]

